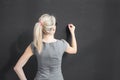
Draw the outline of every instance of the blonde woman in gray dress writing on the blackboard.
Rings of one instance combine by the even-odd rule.
[[[49,14],[43,14],[34,27],[34,39],[26,48],[14,67],[20,80],[27,80],[23,66],[32,55],[37,57],[38,71],[34,80],[64,80],[61,71],[61,61],[64,52],[77,53],[75,26],[68,24],[71,33],[71,45],[64,39],[54,38],[56,19]]]

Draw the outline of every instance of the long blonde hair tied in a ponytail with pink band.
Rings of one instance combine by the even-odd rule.
[[[51,30],[56,24],[56,19],[53,15],[43,14],[39,21],[34,26],[34,39],[33,43],[37,48],[38,52],[42,51],[42,36],[51,34]]]

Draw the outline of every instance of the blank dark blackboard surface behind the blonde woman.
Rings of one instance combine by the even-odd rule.
[[[119,0],[1,0],[0,80],[19,80],[13,67],[43,13],[56,17],[58,39],[70,42],[66,26],[76,26],[78,52],[63,56],[65,80],[120,80]],[[32,56],[24,67],[28,80],[33,80],[36,65]]]

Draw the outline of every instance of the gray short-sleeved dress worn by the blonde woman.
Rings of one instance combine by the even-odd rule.
[[[40,54],[33,42],[31,48],[38,62],[38,71],[34,80],[64,80],[61,71],[62,56],[67,48],[67,42],[64,39],[51,43],[43,42]]]

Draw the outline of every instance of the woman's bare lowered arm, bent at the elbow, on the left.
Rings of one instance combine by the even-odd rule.
[[[14,70],[20,80],[27,80],[25,73],[23,71],[23,66],[29,60],[29,58],[33,55],[30,45],[26,48],[23,55],[19,58],[18,62],[16,63]]]

